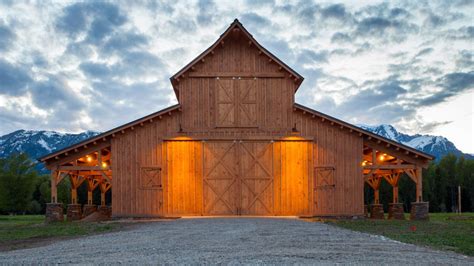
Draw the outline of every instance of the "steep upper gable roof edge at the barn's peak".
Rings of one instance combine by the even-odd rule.
[[[233,29],[240,29],[244,35],[252,42],[255,47],[257,47],[262,53],[270,57],[273,61],[275,61],[279,66],[282,67],[282,69],[286,70],[288,73],[290,73],[292,76],[294,76],[297,81],[297,87],[296,90],[298,90],[299,86],[304,80],[304,77],[301,76],[298,72],[296,72],[294,69],[289,67],[287,64],[285,64],[283,61],[281,61],[278,57],[276,57],[274,54],[269,52],[265,47],[263,47],[261,44],[255,40],[255,38],[250,34],[250,32],[245,29],[245,27],[240,23],[238,19],[235,19],[232,24],[227,28],[227,30],[224,31],[224,33],[221,34],[219,39],[217,39],[209,48],[204,50],[200,55],[198,55],[196,58],[194,58],[191,62],[189,62],[187,65],[185,65],[181,70],[179,70],[176,74],[174,74],[171,78],[171,84],[173,85],[174,92],[176,96],[178,97],[179,91],[177,88],[179,77],[181,77],[184,73],[186,73],[189,69],[191,69],[195,64],[197,64],[201,59],[206,57],[209,53],[211,53],[218,45],[221,43],[231,32]],[[178,97],[179,99],[179,97]]]

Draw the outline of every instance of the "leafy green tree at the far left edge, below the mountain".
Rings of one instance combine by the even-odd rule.
[[[25,213],[35,189],[38,173],[26,154],[12,154],[0,159],[0,210]]]

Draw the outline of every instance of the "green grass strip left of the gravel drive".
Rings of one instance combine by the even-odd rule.
[[[118,223],[58,222],[46,224],[44,215],[0,215],[0,250],[31,246],[44,240],[85,236],[119,228]]]

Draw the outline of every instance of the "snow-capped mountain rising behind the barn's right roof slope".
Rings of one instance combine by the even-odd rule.
[[[422,152],[431,154],[436,157],[436,160],[439,160],[443,156],[452,153],[456,156],[464,156],[465,158],[473,159],[474,157],[470,154],[465,154],[462,151],[458,150],[454,144],[449,141],[447,138],[442,136],[432,136],[432,135],[408,135],[401,132],[398,132],[391,125],[377,125],[377,126],[368,126],[368,125],[358,125],[359,127],[380,135],[382,137],[400,142]]]

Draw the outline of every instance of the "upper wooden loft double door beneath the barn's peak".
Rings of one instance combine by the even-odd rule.
[[[216,78],[216,127],[258,127],[257,79]]]

